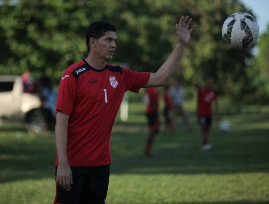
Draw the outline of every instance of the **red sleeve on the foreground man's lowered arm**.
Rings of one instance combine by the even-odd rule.
[[[64,73],[57,96],[56,112],[71,115],[77,96],[77,81],[71,73]]]

